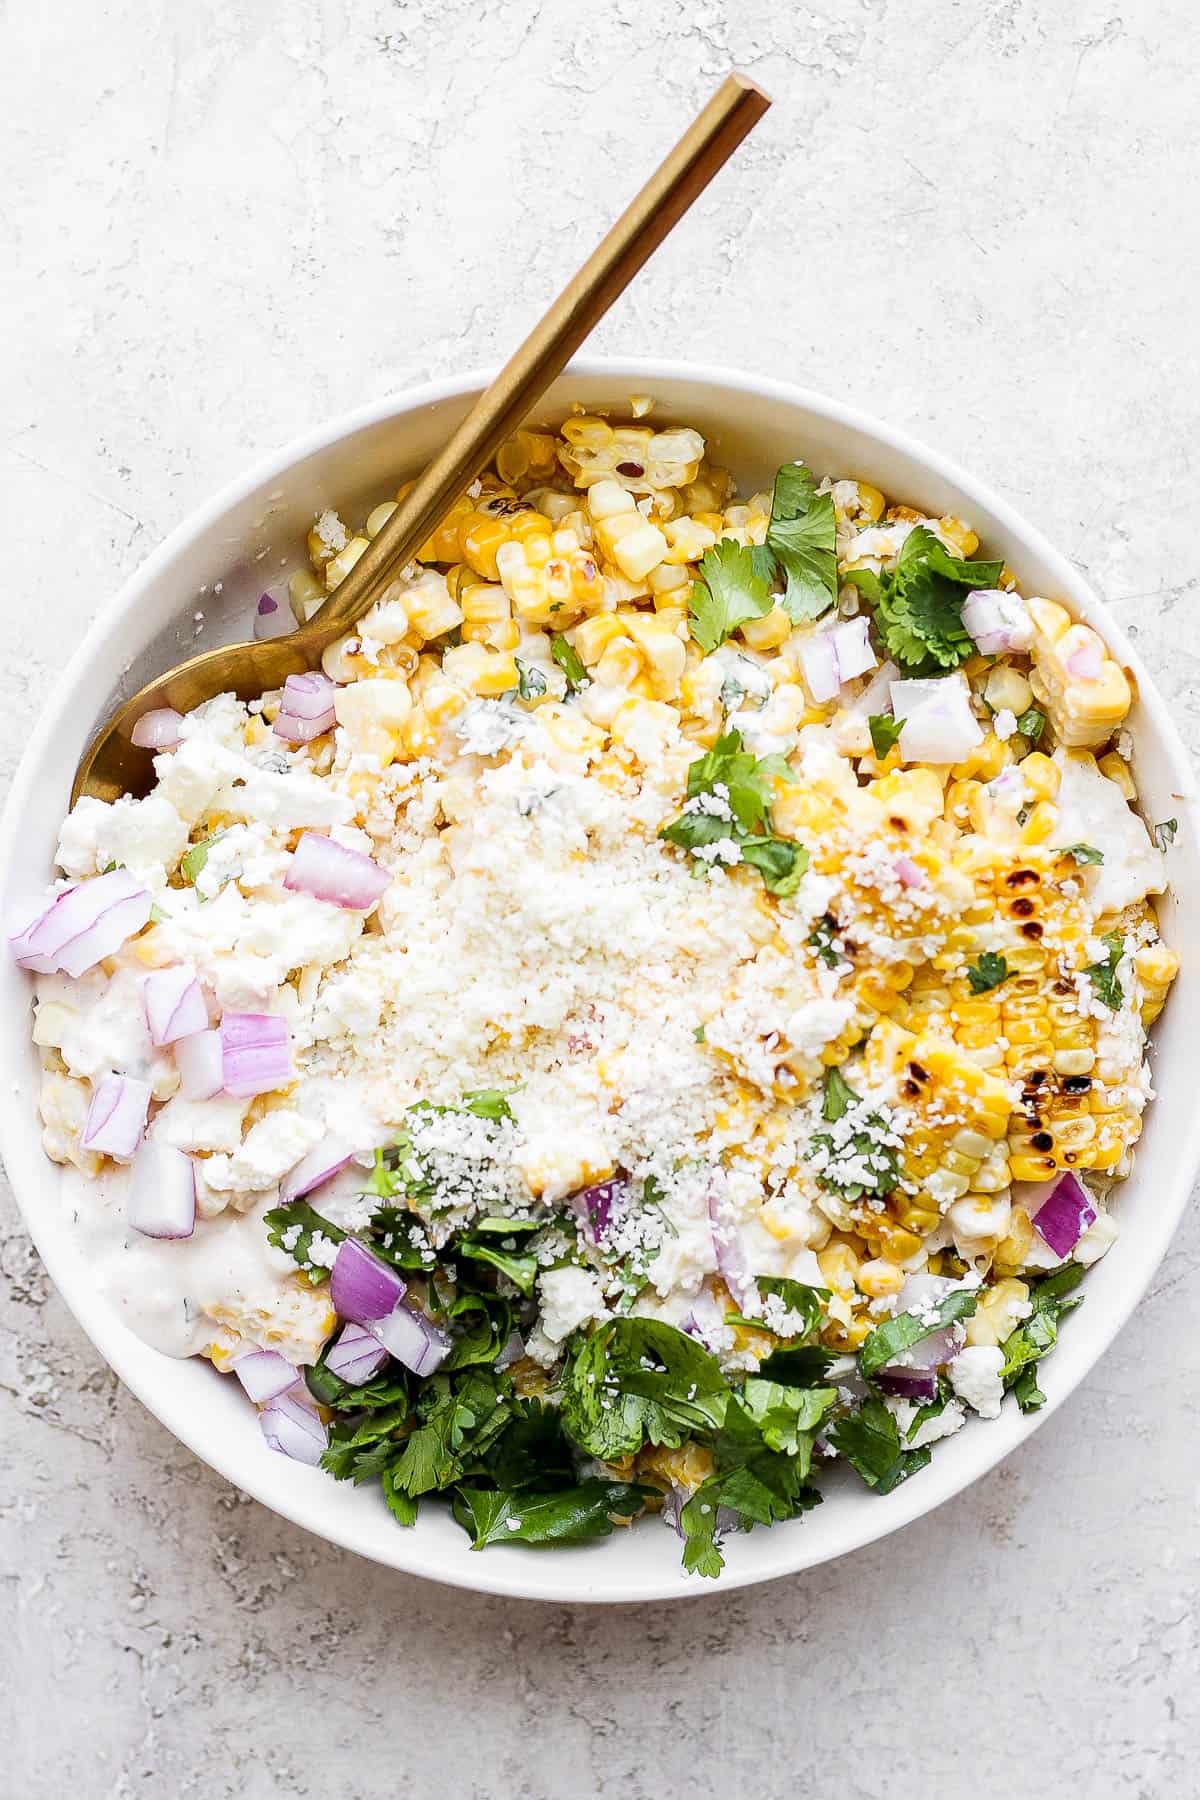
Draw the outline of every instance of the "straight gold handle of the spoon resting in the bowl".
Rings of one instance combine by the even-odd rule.
[[[579,274],[567,283],[491,387],[484,389],[369,549],[309,619],[306,632],[317,628],[327,641],[374,605],[387,581],[412,560],[452,502],[516,430],[768,106],[770,97],[747,76],[732,74],[721,83]]]

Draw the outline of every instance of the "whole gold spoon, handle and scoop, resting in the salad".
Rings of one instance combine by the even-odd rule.
[[[313,668],[322,650],[362,619],[768,106],[770,97],[754,81],[727,77],[308,625],[286,637],[205,650],[148,682],[88,745],[76,770],[72,805],[81,794],[112,801],[148,792],[153,751],[130,742],[142,713],[157,707],[187,713],[218,693],[252,700],[281,688],[288,675]]]

